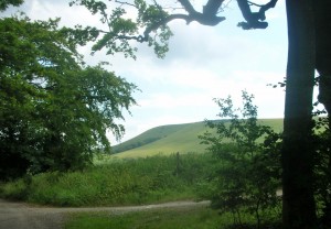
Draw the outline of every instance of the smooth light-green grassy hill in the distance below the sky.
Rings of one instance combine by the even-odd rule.
[[[275,131],[282,130],[282,119],[261,119],[259,121],[270,126]],[[161,126],[115,145],[113,151],[116,153],[115,156],[118,157],[141,157],[159,153],[204,152],[205,145],[200,144],[197,137],[206,130],[204,122]]]

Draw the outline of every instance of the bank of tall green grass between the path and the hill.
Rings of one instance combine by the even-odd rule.
[[[54,206],[118,206],[196,198],[209,154],[110,160],[81,172],[44,173],[2,184],[0,196]]]

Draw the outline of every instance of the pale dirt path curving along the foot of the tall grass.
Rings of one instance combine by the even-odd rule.
[[[209,201],[173,201],[131,207],[54,208],[0,199],[0,229],[61,229],[66,212],[107,211],[124,214],[160,208],[207,206]]]

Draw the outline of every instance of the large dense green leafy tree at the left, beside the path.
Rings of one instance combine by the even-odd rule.
[[[122,109],[137,89],[99,66],[85,66],[71,30],[58,20],[0,20],[1,178],[28,171],[67,171],[109,151]],[[82,42],[82,41],[79,41]]]

